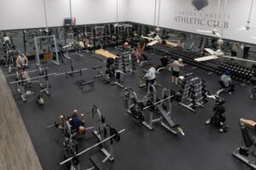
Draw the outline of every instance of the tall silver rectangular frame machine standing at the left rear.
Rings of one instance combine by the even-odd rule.
[[[39,53],[38,43],[41,43],[42,40],[46,40],[45,42],[49,45],[51,62],[54,63],[55,65],[60,65],[57,43],[56,43],[55,35],[53,35],[53,36],[34,37],[34,44],[36,49],[36,61],[37,61],[38,67],[41,68],[41,61],[39,57],[39,54],[41,53]],[[52,48],[54,48],[54,50],[52,50]]]

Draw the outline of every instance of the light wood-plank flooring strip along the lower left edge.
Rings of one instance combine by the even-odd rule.
[[[0,169],[42,170],[1,68],[0,120]]]

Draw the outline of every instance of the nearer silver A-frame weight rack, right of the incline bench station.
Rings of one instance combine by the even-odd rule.
[[[183,85],[182,100],[178,103],[189,111],[196,112],[198,106],[204,107],[203,82],[199,77],[192,77]]]

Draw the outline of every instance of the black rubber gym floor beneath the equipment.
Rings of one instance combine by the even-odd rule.
[[[113,48],[108,50],[113,54],[119,53]],[[84,113],[90,111],[93,104],[102,108],[102,115],[106,117],[108,124],[118,130],[126,129],[125,133],[121,134],[120,142],[114,144],[115,161],[107,164],[110,169],[250,169],[233,157],[232,152],[240,146],[239,119],[244,117],[256,120],[255,101],[249,99],[252,86],[241,87],[239,82],[235,82],[235,94],[221,94],[221,97],[226,100],[225,116],[230,125],[228,133],[219,133],[217,128],[205,125],[205,121],[213,114],[213,99],[209,99],[205,107],[200,108],[196,113],[183,108],[175,101],[172,103],[172,117],[175,122],[182,125],[185,136],[173,135],[157,124],[153,131],[149,131],[126,113],[124,91],[121,88],[104,84],[101,78],[95,80],[94,88],[84,87],[84,92],[75,84],[81,79],[92,80],[96,75],[96,71],[92,69],[94,66],[102,65],[105,71],[106,64],[93,58],[92,55],[96,54],[84,53],[84,57],[72,55],[74,69],[88,68],[88,71],[83,71],[82,76],[49,77],[51,94],[49,97],[45,97],[44,106],[38,106],[35,95],[27,96],[27,101],[22,102],[19,94],[16,93],[15,85],[9,86],[44,170],[63,169],[59,165],[63,158],[61,130],[55,129],[55,127],[46,129],[46,127],[57,121],[61,114],[71,115],[74,109]],[[160,55],[149,53],[146,55],[152,58],[152,63],[155,66],[160,65]],[[30,63],[29,70],[36,69],[36,65],[32,61]],[[48,63],[42,67],[49,67],[49,73],[70,70],[68,61],[61,63],[61,66]],[[219,88],[219,76],[214,73],[208,75],[207,71],[201,69],[192,70],[192,67],[192,65],[186,65],[181,74],[194,72],[195,76],[206,81],[207,89],[215,94]],[[7,75],[7,68],[2,67],[2,69]],[[137,66],[135,74],[124,77],[125,87],[133,88],[139,99],[146,94],[145,88],[138,88],[143,69],[148,68]],[[34,76],[37,76],[36,73],[31,74],[31,77]],[[157,75],[157,82],[162,85],[161,88],[157,88],[158,96],[160,96],[162,88],[171,88],[176,91],[181,88],[179,85],[172,84],[171,78],[172,73],[168,71]],[[14,77],[7,77],[8,82],[14,80]],[[91,116],[87,115],[86,119],[86,127],[93,126]],[[95,143],[96,139],[93,135],[86,133],[85,137],[79,140],[79,151]],[[80,156],[81,169],[91,167],[89,158],[94,154],[101,156],[98,149],[90,150]]]

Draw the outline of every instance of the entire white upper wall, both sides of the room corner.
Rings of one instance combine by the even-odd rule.
[[[175,21],[176,16],[201,19],[204,22],[212,20],[209,16],[201,15],[216,14],[217,0],[208,0],[209,5],[201,11],[195,10],[191,1],[161,0],[160,26],[194,33],[199,33],[196,31],[198,29],[212,30],[211,26]],[[119,21],[154,25],[154,2],[155,0],[119,0]],[[224,38],[256,43],[255,39],[250,38],[256,37],[256,30],[237,31],[237,28],[246,25],[250,3],[251,0],[229,0],[227,15],[230,18],[226,19],[229,26],[225,29]],[[62,26],[63,19],[70,16],[69,0],[45,0],[45,4],[48,26]],[[46,26],[43,0],[0,0],[0,7],[0,30]],[[116,0],[72,0],[72,11],[78,25],[115,22]],[[256,28],[256,3],[253,5],[251,27]]]

